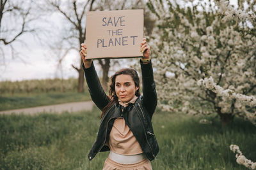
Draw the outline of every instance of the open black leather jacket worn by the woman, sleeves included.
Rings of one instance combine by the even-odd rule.
[[[95,67],[92,64],[88,69],[85,69],[83,66],[83,69],[92,101],[102,110],[109,103],[109,98],[100,85]],[[89,160],[92,160],[98,152],[109,150],[109,147],[104,144],[109,139],[109,133],[115,119],[120,117],[124,117],[125,123],[131,129],[138,143],[140,143],[141,149],[148,160],[153,160],[159,152],[159,146],[151,122],[157,105],[156,85],[151,62],[148,64],[142,64],[141,62],[141,73],[143,96],[138,97],[134,104],[129,103],[124,108],[124,111],[122,111],[118,103],[113,104],[106,111],[100,122],[97,139],[88,154]]]

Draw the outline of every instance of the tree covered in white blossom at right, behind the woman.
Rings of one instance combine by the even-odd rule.
[[[147,6],[159,18],[150,44],[157,60],[161,108],[191,114],[217,113],[223,125],[234,115],[255,114],[250,104],[240,107],[239,99],[197,85],[198,80],[212,77],[212,82],[215,80],[223,89],[244,96],[256,94],[255,22],[227,20],[227,10],[221,13],[225,8],[211,1],[148,1]],[[255,15],[255,3],[248,6],[250,10],[241,11]]]

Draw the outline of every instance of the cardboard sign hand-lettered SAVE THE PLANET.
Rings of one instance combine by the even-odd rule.
[[[140,57],[143,10],[86,13],[87,59]]]

